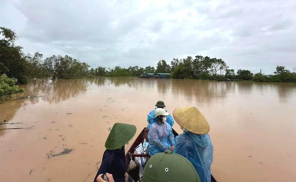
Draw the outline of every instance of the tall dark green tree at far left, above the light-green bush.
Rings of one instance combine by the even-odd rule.
[[[9,29],[0,27],[0,63],[1,72],[6,73],[8,77],[16,78],[20,83],[27,83],[26,77],[27,63],[22,53],[21,46],[15,46],[17,40],[16,33]]]

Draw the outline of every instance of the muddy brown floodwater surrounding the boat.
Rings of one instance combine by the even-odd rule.
[[[0,129],[34,127],[0,130],[0,181],[93,181],[109,128],[130,123],[138,135],[158,100],[170,113],[192,105],[205,115],[218,181],[296,181],[296,84],[95,78],[20,87],[31,97],[0,104],[0,121],[19,124]],[[74,150],[51,156],[63,148]]]

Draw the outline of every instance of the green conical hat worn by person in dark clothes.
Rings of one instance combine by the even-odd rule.
[[[115,123],[105,142],[106,149],[114,150],[128,143],[137,131],[136,126],[125,123]]]

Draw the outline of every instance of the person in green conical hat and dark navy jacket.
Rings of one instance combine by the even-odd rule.
[[[103,154],[101,166],[94,178],[94,182],[100,174],[112,174],[114,181],[125,182],[126,158],[124,146],[136,134],[136,126],[115,123],[105,142],[106,150]]]

